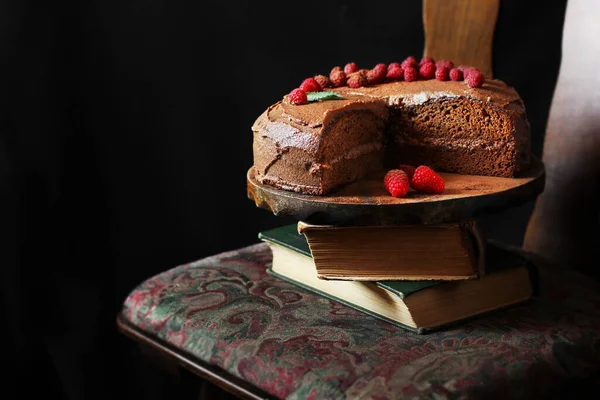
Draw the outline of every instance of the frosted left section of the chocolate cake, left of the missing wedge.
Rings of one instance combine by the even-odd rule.
[[[253,126],[261,183],[322,195],[380,170],[388,110],[379,99],[346,95],[302,107],[281,101]]]

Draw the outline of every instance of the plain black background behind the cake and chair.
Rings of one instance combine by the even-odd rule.
[[[117,332],[125,296],[292,222],[246,197],[252,123],[335,65],[420,57],[421,2],[0,4],[4,394],[185,398]],[[501,1],[494,73],[524,99],[538,155],[565,4]],[[484,230],[519,244],[531,206]]]

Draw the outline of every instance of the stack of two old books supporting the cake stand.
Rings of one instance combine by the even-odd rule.
[[[303,222],[259,233],[267,271],[397,326],[424,333],[533,297],[527,259],[472,222],[339,227]]]

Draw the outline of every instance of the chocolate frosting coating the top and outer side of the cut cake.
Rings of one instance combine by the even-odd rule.
[[[343,99],[323,100],[304,105],[291,104],[284,98],[270,106],[253,124],[254,160],[257,176],[267,175],[271,166],[279,162],[290,149],[301,151],[298,164],[314,164],[324,132],[336,118],[352,111],[368,111],[387,119],[389,109],[410,107],[432,100],[470,99],[493,106],[509,115],[515,129],[511,133],[521,153],[528,153],[529,125],[524,104],[514,88],[497,79],[487,80],[480,88],[471,88],[466,82],[438,81],[391,82],[357,89],[342,87],[327,89],[339,93]],[[475,141],[476,138],[473,138]],[[259,143],[259,145],[257,145]],[[296,150],[294,151],[295,154]],[[528,157],[528,154],[518,157]],[[294,156],[296,157],[296,156]],[[516,160],[519,166],[525,159]],[[300,170],[295,174],[301,173]],[[307,171],[307,173],[309,173]],[[270,177],[271,180],[275,177]],[[276,179],[284,179],[276,177]],[[293,182],[287,182],[294,186]]]

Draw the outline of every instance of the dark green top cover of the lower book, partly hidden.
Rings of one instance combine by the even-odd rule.
[[[274,229],[260,232],[258,238],[261,240],[271,241],[287,247],[291,250],[297,251],[301,254],[311,257],[310,248],[304,235],[298,233],[298,227],[296,224],[284,225]],[[506,268],[511,266],[524,265],[524,258],[513,252],[501,249],[497,246],[490,246],[488,244],[486,248],[486,270],[488,273],[498,270],[499,268]],[[389,290],[392,293],[397,294],[400,298],[405,298],[411,293],[415,293],[419,290],[442,284],[445,282],[435,280],[424,280],[424,281],[378,281],[373,282],[376,285]]]

